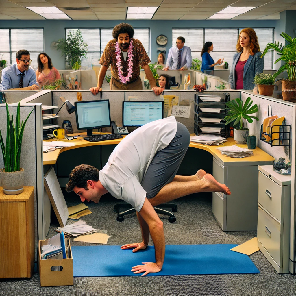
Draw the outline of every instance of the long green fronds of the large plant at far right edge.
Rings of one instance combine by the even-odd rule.
[[[276,64],[281,60],[285,63],[274,73],[273,77],[275,78],[277,75],[287,70],[288,79],[296,80],[296,38],[292,39],[291,36],[284,32],[281,32],[280,35],[285,39],[286,44],[283,46],[282,44],[279,45],[279,42],[268,43],[261,57],[264,57],[269,50],[276,51],[280,57],[274,63]]]

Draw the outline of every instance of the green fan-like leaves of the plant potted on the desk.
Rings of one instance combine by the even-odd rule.
[[[242,104],[242,100],[237,98],[235,100],[232,100],[230,102],[226,102],[227,107],[229,108],[228,115],[225,116],[226,125],[233,122],[233,126],[240,123],[239,129],[244,129],[244,122],[243,119],[246,119],[248,123],[253,122],[253,118],[256,120],[259,120],[258,117],[250,116],[249,114],[253,114],[258,112],[258,106],[257,104],[253,104],[253,101],[251,101],[251,98],[248,97],[246,99],[246,102],[244,105]]]

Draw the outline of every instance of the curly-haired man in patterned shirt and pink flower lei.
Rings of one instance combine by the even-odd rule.
[[[110,90],[141,90],[140,66],[144,69],[151,89],[160,95],[163,89],[156,86],[155,78],[149,68],[151,62],[141,41],[133,38],[133,27],[126,23],[116,25],[112,36],[100,59],[100,72],[97,87],[89,90],[96,95],[102,90],[102,84],[111,64]]]

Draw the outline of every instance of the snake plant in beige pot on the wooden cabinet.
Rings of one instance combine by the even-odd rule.
[[[33,109],[32,109],[33,111]],[[24,190],[24,169],[20,168],[20,152],[22,148],[22,136],[26,122],[32,111],[20,124],[20,103],[17,106],[17,117],[15,125],[13,124],[13,115],[9,116],[8,105],[7,112],[7,131],[6,148],[0,131],[0,145],[3,155],[4,168],[0,169],[1,183],[3,191],[6,194],[20,194]]]

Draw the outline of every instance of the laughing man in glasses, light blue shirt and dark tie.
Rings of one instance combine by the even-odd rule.
[[[36,74],[30,66],[31,59],[28,50],[21,49],[16,53],[16,63],[2,70],[0,91],[7,89],[36,90]]]

